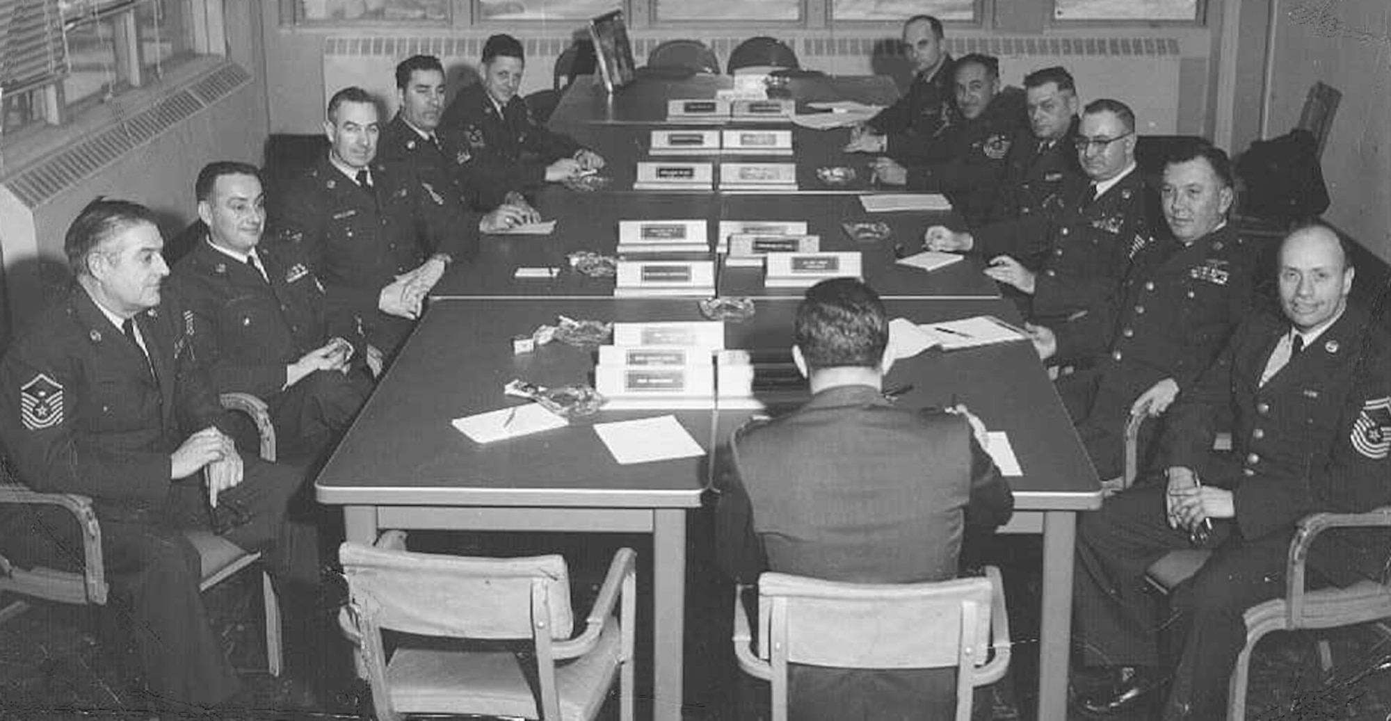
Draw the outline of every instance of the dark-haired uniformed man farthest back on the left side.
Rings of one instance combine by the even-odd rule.
[[[441,125],[455,154],[455,178],[460,188],[479,189],[480,207],[604,167],[604,156],[531,118],[517,95],[526,60],[516,38],[488,38],[479,70],[483,82],[459,92]]]

